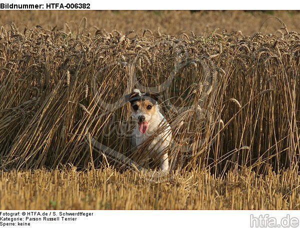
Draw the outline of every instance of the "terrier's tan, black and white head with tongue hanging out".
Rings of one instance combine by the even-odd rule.
[[[141,92],[133,89],[133,92],[125,95],[125,101],[131,104],[131,114],[136,118],[139,131],[145,133],[152,116],[158,111],[157,92]]]

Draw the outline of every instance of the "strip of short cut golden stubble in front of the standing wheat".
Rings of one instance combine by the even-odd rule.
[[[157,183],[111,168],[14,170],[0,173],[0,209],[299,209],[299,184],[292,170],[216,177],[197,169]]]

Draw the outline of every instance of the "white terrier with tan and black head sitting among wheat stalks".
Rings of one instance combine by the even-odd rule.
[[[132,145],[140,148],[143,143],[149,143],[144,158],[159,159],[161,170],[168,170],[167,147],[172,137],[171,127],[164,116],[159,112],[159,93],[141,92],[133,89],[133,92],[125,95],[125,101],[131,104],[131,116],[136,120],[136,126],[132,132]]]

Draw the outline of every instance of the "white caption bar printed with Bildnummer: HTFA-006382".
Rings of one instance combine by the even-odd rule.
[[[16,5],[24,4],[23,7]],[[84,4],[84,5],[83,5]],[[29,6],[28,6],[29,5]],[[33,5],[33,6],[32,6]],[[2,0],[0,9],[38,9],[38,10],[282,10],[282,9],[299,9],[300,1],[285,0],[284,3],[280,0],[251,0],[239,1],[235,0],[213,0],[213,1],[200,1],[200,0]],[[17,8],[16,8],[17,7]],[[33,7],[33,8],[32,8]]]

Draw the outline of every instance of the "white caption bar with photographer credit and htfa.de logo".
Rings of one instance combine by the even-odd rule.
[[[0,210],[0,227],[299,227],[297,210]]]

